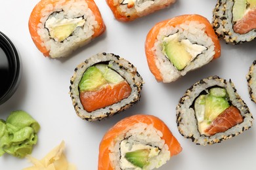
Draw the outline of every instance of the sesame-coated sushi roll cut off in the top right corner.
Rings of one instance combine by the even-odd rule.
[[[226,43],[252,41],[256,37],[256,1],[219,0],[213,10],[213,29]]]

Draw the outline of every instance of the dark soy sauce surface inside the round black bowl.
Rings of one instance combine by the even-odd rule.
[[[0,46],[0,98],[9,90],[12,83],[11,65],[5,51]]]

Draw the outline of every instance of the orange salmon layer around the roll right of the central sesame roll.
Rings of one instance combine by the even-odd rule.
[[[211,40],[215,44],[215,55],[213,56],[213,58],[216,59],[216,58],[219,58],[219,56],[221,56],[221,44],[219,43],[219,39],[215,34],[213,27],[207,20],[207,18],[200,16],[198,14],[186,14],[186,15],[177,16],[175,18],[171,18],[170,20],[159,22],[158,24],[154,25],[154,27],[152,27],[152,29],[149,31],[146,37],[146,42],[145,42],[145,52],[146,52],[146,59],[148,61],[148,67],[150,68],[150,71],[156,77],[156,80],[158,80],[158,82],[163,81],[163,78],[161,77],[161,73],[158,70],[158,67],[156,67],[156,54],[153,50],[158,33],[162,27],[167,27],[167,26],[175,27],[177,25],[181,25],[186,21],[198,21],[200,22],[200,24],[204,24],[205,33],[211,38]]]

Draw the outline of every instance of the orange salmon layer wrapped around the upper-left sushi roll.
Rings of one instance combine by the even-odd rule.
[[[30,14],[30,19],[28,21],[28,28],[30,30],[30,35],[32,37],[32,40],[35,43],[35,46],[38,48],[39,51],[43,53],[44,56],[49,56],[49,50],[47,50],[47,48],[44,45],[42,45],[43,41],[41,40],[40,35],[37,33],[38,24],[41,24],[40,20],[41,18],[44,17],[43,16],[44,11],[51,12],[49,10],[46,10],[45,7],[47,7],[47,5],[55,6],[57,3],[59,3],[59,1],[60,0],[39,1],[39,3],[37,3],[37,5],[35,5],[35,7],[33,8],[32,13]],[[106,30],[106,26],[104,25],[100,11],[96,6],[95,1],[93,0],[84,0],[84,1],[87,3],[89,9],[91,9],[93,14],[95,15],[96,22],[98,22],[98,26],[95,27],[95,29],[93,30],[94,31],[93,38],[98,37],[99,35],[104,33],[104,31]],[[66,3],[68,3],[68,0],[64,1],[62,5],[65,5]],[[52,12],[55,12],[55,11],[52,11]]]

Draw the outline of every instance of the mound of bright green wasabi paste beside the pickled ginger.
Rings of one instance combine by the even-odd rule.
[[[31,154],[39,129],[38,122],[22,110],[11,112],[6,121],[0,119],[0,156],[7,153],[24,158]]]

